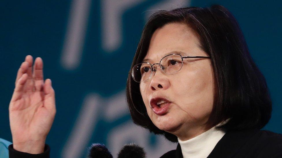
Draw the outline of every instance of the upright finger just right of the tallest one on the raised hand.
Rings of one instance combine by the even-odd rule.
[[[36,58],[33,66],[32,77],[36,91],[43,91],[43,61],[41,58]]]

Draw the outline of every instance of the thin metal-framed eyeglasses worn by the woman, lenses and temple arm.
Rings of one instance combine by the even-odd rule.
[[[156,66],[159,65],[163,73],[175,74],[183,66],[183,58],[211,58],[208,56],[181,56],[180,54],[170,54],[162,58],[159,63],[150,64],[142,62],[133,66],[131,76],[136,82],[143,82],[152,77],[153,71],[156,71]]]

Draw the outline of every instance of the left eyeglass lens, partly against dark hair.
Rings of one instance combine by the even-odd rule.
[[[133,66],[131,75],[136,82],[146,81],[152,75],[151,64],[140,63]]]

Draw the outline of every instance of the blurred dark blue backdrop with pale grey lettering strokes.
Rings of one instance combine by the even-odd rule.
[[[12,141],[8,105],[26,55],[44,62],[56,93],[57,114],[47,137],[51,157],[86,157],[104,143],[114,157],[135,142],[148,157],[176,144],[134,125],[125,85],[142,28],[157,9],[220,4],[238,20],[265,75],[273,112],[264,129],[282,133],[280,1],[72,0],[0,2],[0,138]],[[157,151],[157,152],[156,152]]]

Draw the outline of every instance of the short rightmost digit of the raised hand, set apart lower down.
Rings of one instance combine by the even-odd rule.
[[[46,79],[44,83],[44,106],[47,109],[55,110],[55,91],[52,87],[51,79]]]

